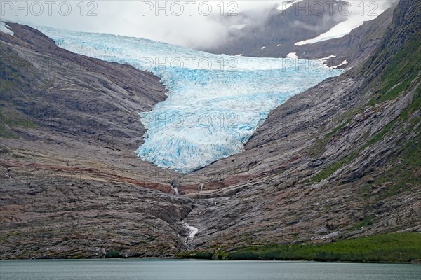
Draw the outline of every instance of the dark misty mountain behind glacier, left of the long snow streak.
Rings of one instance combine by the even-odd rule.
[[[333,6],[334,5],[334,6]],[[232,26],[227,41],[217,46],[202,48],[206,52],[249,57],[286,57],[294,43],[315,38],[338,23],[346,20],[338,5],[344,1],[305,0],[299,3],[284,3],[285,10],[278,6],[255,15],[253,11],[227,17]]]

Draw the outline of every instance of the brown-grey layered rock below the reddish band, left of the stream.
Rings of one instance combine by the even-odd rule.
[[[5,181],[2,258],[103,258],[109,251],[163,257],[186,248],[178,232],[185,232],[180,221],[192,209],[191,200],[59,175]]]

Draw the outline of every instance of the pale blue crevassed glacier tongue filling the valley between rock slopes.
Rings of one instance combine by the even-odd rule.
[[[135,153],[182,173],[239,153],[269,111],[342,73],[321,61],[212,55],[143,38],[37,28],[61,48],[159,76],[168,98],[140,113],[147,133]]]

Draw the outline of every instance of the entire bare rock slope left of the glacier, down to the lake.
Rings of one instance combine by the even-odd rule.
[[[171,256],[193,202],[133,151],[159,78],[58,48],[30,27],[1,34],[1,258]]]

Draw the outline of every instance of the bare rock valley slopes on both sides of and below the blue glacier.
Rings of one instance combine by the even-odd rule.
[[[165,98],[154,76],[9,23],[1,258],[174,255],[187,248],[182,221],[199,229],[189,250],[206,251],[420,232],[420,10],[401,0],[382,36],[356,29],[350,42],[379,38],[359,49],[363,63],[279,106],[243,153],[188,176],[133,156],[136,113]]]

